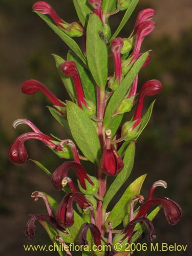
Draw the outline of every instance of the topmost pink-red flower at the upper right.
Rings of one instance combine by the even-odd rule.
[[[135,23],[135,27],[134,27],[132,36],[134,36],[137,33],[138,26],[142,22],[145,22],[146,20],[151,20],[154,16],[155,16],[154,9],[147,8],[147,9],[140,11],[137,16],[137,19],[136,19],[136,23]]]

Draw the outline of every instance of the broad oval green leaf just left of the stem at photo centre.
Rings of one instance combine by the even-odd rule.
[[[100,158],[100,143],[93,122],[73,102],[67,102],[67,116],[72,136],[78,147],[92,163]]]

